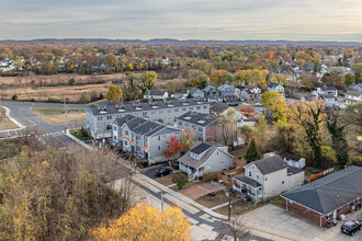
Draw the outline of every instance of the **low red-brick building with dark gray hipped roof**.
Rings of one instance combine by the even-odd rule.
[[[287,211],[325,227],[361,208],[362,168],[348,167],[281,196]]]

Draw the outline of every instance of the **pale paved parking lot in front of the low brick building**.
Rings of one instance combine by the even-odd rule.
[[[357,213],[347,215],[347,220],[357,219]],[[340,227],[343,221],[338,221],[338,225],[327,228],[320,228],[306,219],[299,218],[284,209],[276,207],[274,205],[265,205],[258,209],[254,209],[246,215],[241,216],[246,221],[258,222],[261,226],[267,226],[273,228],[281,232],[289,232],[293,234],[298,234],[302,239],[314,240],[314,241],[361,241],[362,230],[354,233],[353,237],[341,233]]]

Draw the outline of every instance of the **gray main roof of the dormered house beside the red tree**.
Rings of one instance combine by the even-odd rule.
[[[202,145],[202,144],[205,144],[205,142],[201,142],[201,141],[196,141],[195,145],[193,146],[192,149],[196,148],[199,145]],[[185,153],[184,156],[182,156],[178,161],[184,165],[188,165],[188,167],[191,167],[191,168],[194,168],[194,169],[197,169],[199,167],[203,165],[208,159],[210,157],[215,153],[215,151],[217,151],[217,149],[219,147],[224,147],[222,145],[218,145],[218,144],[215,144],[215,142],[207,142],[207,145],[211,146],[211,148],[208,148],[204,156],[202,156],[200,158],[200,160],[197,159],[194,159],[190,156],[190,151],[188,151],[188,153]],[[229,153],[225,152],[223,149],[219,149],[219,151],[223,151],[224,153],[230,156]],[[230,156],[233,157],[233,156]]]

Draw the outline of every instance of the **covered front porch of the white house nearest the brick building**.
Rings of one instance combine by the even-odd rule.
[[[236,175],[233,177],[233,190],[240,193],[241,197],[250,196],[257,200],[262,198],[262,185],[245,174]]]

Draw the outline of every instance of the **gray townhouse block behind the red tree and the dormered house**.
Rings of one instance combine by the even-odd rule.
[[[177,126],[180,129],[192,127],[195,134],[194,140],[215,141],[217,131],[217,117],[214,114],[188,112],[177,117]]]

